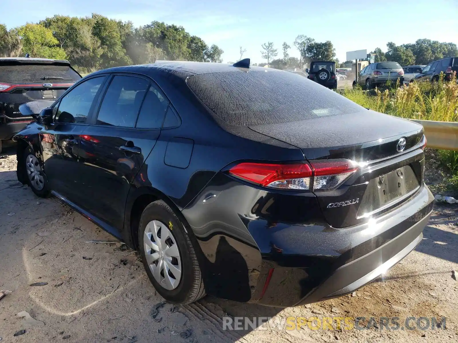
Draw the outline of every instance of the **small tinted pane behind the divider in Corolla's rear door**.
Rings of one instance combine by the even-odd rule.
[[[169,102],[165,97],[154,86],[150,86],[138,115],[136,128],[160,128],[164,121],[167,106],[169,106]]]

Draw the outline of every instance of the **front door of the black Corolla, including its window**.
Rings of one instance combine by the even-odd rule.
[[[78,145],[106,76],[85,80],[53,106],[53,122],[40,131],[49,188],[72,202],[79,200]]]

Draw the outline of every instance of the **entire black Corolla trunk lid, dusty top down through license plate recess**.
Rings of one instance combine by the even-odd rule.
[[[332,120],[331,120],[332,119]],[[374,111],[301,122],[251,126],[302,150],[307,160],[349,159],[359,169],[331,191],[315,191],[329,225],[375,218],[409,199],[423,184],[423,127]],[[398,152],[400,139],[404,150]]]

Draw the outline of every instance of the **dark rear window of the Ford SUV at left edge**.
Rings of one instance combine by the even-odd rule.
[[[0,64],[0,82],[62,82],[77,81],[81,76],[69,65]]]

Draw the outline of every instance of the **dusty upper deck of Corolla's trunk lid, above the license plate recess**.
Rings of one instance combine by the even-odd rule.
[[[371,110],[250,129],[297,146],[308,160],[378,160],[396,155],[399,139],[406,139],[404,150],[408,150],[423,136],[420,124]]]

